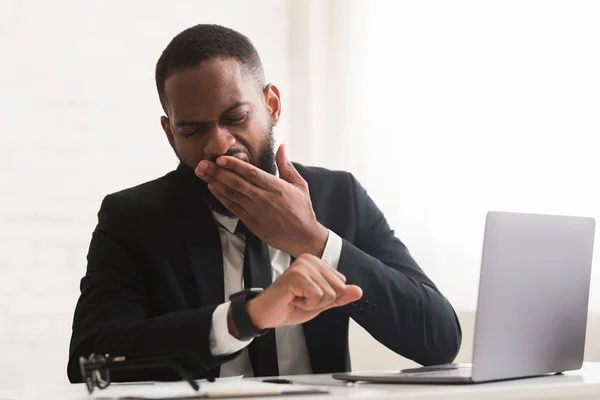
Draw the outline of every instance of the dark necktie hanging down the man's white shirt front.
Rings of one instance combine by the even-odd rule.
[[[269,248],[260,238],[238,222],[237,232],[246,235],[246,249],[244,251],[244,287],[266,289],[272,283],[271,257]],[[277,376],[277,345],[275,329],[270,329],[266,334],[255,337],[248,346],[250,362],[255,376]]]

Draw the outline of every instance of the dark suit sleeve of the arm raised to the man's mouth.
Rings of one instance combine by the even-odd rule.
[[[363,289],[347,306],[375,339],[421,365],[449,363],[461,344],[461,327],[448,300],[395,237],[358,181],[353,186],[354,240],[344,239],[339,271]]]

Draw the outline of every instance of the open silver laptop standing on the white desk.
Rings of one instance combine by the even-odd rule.
[[[489,212],[472,364],[338,373],[333,377],[476,383],[580,369],[594,233],[593,218]]]

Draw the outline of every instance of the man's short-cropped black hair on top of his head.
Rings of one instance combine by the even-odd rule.
[[[171,40],[156,63],[156,88],[165,112],[165,81],[178,71],[220,57],[236,59],[257,85],[264,86],[262,63],[250,39],[220,25],[192,26]]]

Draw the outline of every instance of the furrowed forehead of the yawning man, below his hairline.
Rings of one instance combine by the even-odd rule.
[[[165,82],[171,110],[180,118],[218,117],[232,104],[251,102],[256,93],[250,77],[235,59],[203,61],[174,73]]]

